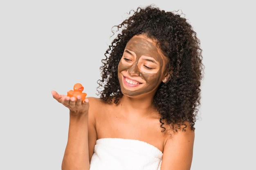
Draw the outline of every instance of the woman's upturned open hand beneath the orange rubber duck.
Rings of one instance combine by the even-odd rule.
[[[65,107],[70,109],[70,113],[73,115],[80,114],[88,114],[89,109],[89,99],[85,98],[82,101],[81,96],[77,96],[77,100],[75,97],[68,97],[67,95],[58,94],[55,91],[52,91],[52,96],[55,100],[63,104]]]

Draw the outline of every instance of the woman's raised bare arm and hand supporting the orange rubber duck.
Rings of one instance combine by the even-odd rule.
[[[89,151],[88,151],[88,109],[89,100],[83,102],[81,96],[75,98],[59,95],[52,92],[53,97],[65,107],[70,109],[70,125],[65,149],[62,170],[89,170]]]

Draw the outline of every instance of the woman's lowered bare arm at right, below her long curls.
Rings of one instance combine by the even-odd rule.
[[[182,129],[182,128],[181,128]],[[195,132],[186,127],[168,136],[164,145],[161,170],[190,170]]]

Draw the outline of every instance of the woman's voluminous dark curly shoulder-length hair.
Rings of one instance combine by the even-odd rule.
[[[102,79],[98,80],[99,87],[103,87],[100,98],[117,104],[123,96],[117,76],[118,63],[127,42],[134,35],[145,34],[157,40],[159,48],[169,58],[167,67],[171,69],[171,77],[167,83],[160,84],[154,97],[154,105],[161,115],[161,127],[169,124],[175,130],[180,124],[186,127],[184,122],[188,121],[194,130],[203,76],[202,50],[197,34],[180,14],[153,6],[139,7],[131,12],[132,16],[115,26],[121,32],[106,50],[106,59],[102,60]]]

